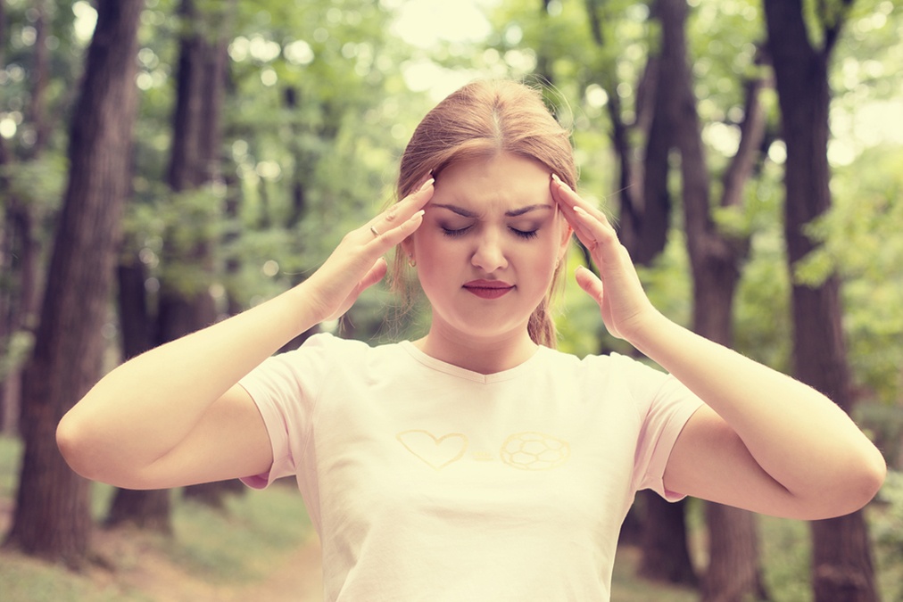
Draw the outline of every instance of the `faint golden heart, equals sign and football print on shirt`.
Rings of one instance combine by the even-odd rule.
[[[402,431],[396,439],[405,449],[435,470],[457,462],[468,449],[467,435],[450,432],[437,437],[430,431]],[[473,458],[479,462],[492,461],[486,451],[475,451]],[[509,436],[500,449],[498,458],[507,466],[519,470],[550,470],[562,466],[571,458],[571,444],[544,432],[524,431]]]

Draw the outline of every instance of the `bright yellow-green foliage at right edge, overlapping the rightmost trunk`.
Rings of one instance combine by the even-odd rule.
[[[903,399],[903,150],[875,148],[837,171],[833,208],[808,233],[820,245],[796,266],[816,286],[833,273],[843,281],[850,361],[863,395]]]

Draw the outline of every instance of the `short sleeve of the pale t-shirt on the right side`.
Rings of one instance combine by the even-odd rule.
[[[669,502],[679,501],[685,495],[665,488],[665,468],[677,437],[703,401],[674,376],[621,359],[633,365],[622,374],[633,383],[630,388],[642,419],[634,455],[634,489],[652,489]]]

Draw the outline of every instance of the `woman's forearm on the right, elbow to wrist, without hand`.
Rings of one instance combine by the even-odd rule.
[[[631,342],[717,412],[792,495],[854,489],[884,460],[849,416],[815,389],[656,315]],[[865,485],[867,488],[868,485]]]

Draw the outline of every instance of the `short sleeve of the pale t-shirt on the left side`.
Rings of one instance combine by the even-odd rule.
[[[277,478],[297,474],[336,340],[314,335],[301,347],[266,359],[238,382],[256,403],[273,446],[273,466],[267,473],[242,478],[247,486],[262,489]]]

